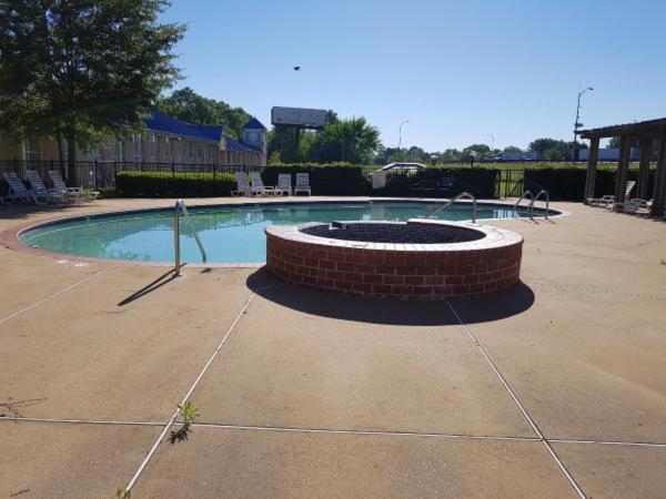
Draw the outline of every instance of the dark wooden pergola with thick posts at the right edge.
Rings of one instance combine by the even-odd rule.
[[[619,136],[619,161],[615,179],[615,201],[624,203],[629,172],[629,154],[634,139],[640,145],[640,166],[638,171],[637,197],[653,200],[652,216],[663,216],[666,204],[666,118],[659,120],[642,121],[636,123],[603,126],[601,129],[576,131],[582,139],[589,139],[589,160],[587,162],[587,177],[585,180],[585,202],[594,197],[596,169],[599,157],[599,140]],[[653,143],[657,143],[657,172],[652,195],[647,192],[649,181],[649,163],[653,156]]]

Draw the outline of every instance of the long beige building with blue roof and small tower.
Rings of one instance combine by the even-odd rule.
[[[222,166],[266,164],[266,128],[255,118],[243,126],[241,141],[229,136],[223,126],[194,125],[158,111],[150,111],[144,123],[148,130],[143,134],[133,133],[123,141],[109,138],[97,151],[77,149],[77,160]],[[58,144],[44,138],[16,143],[0,136],[2,160],[58,161]]]

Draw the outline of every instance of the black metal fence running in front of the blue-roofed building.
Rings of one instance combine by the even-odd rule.
[[[176,173],[189,173],[192,175],[213,175],[235,172],[261,172],[264,166],[249,165],[219,165],[202,163],[149,163],[128,161],[77,161],[74,163],[77,186],[91,189],[114,187],[115,175],[120,172],[161,172],[175,176]],[[49,170],[57,170],[63,179],[68,179],[68,163],[59,161],[0,161],[0,174],[14,172],[21,179],[26,179],[28,170],[39,172],[48,187],[52,187]],[[69,175],[71,176],[71,175]],[[73,184],[72,179],[68,180]]]

